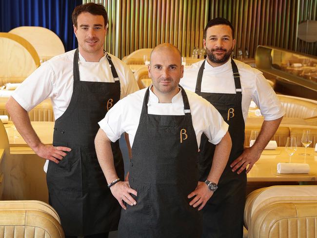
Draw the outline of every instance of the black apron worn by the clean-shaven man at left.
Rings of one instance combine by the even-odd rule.
[[[99,166],[94,139],[98,122],[120,99],[120,82],[110,56],[115,82],[79,80],[79,51],[74,56],[73,95],[64,114],[55,121],[54,146],[72,150],[57,164],[49,161],[49,203],[56,209],[67,236],[84,236],[117,230],[120,206],[107,187]],[[115,167],[124,177],[119,141],[111,144]]]

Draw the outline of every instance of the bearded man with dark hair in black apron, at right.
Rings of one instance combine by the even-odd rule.
[[[203,238],[241,238],[246,196],[246,173],[258,160],[284,115],[282,105],[262,73],[231,59],[236,44],[234,28],[223,18],[210,20],[204,31],[207,59],[184,71],[180,84],[212,103],[229,124],[232,149],[218,183],[218,190],[203,209]],[[243,148],[244,125],[251,99],[264,116],[258,139]],[[200,181],[210,170],[215,147],[202,135]]]

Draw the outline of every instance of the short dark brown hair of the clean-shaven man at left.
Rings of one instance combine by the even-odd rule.
[[[104,19],[104,27],[107,26],[108,14],[107,14],[107,11],[104,8],[104,6],[102,4],[89,2],[89,3],[85,3],[85,4],[82,4],[82,5],[75,7],[75,9],[72,13],[72,20],[73,20],[73,24],[75,25],[76,28],[77,28],[77,18],[79,16],[79,14],[83,13],[83,12],[88,12],[92,15],[102,16]]]

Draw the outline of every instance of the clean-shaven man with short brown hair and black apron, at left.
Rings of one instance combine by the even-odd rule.
[[[47,159],[49,203],[57,210],[66,237],[107,237],[117,230],[120,206],[110,193],[96,156],[98,121],[138,85],[129,68],[103,50],[107,12],[100,4],[73,12],[79,48],[43,63],[23,81],[7,110],[28,145]],[[55,127],[53,146],[34,132],[27,111],[50,98]],[[115,168],[123,179],[119,141],[111,144]]]

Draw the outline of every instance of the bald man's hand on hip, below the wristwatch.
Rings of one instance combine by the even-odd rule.
[[[198,211],[200,211],[207,203],[207,201],[213,196],[214,192],[208,189],[207,184],[204,182],[198,182],[195,191],[191,192],[187,198],[193,198],[189,205],[193,207],[198,207]]]

